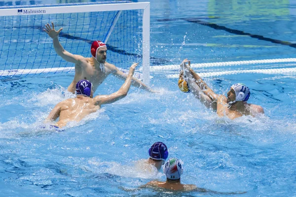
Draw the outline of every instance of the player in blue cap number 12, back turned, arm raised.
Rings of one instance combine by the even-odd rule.
[[[132,76],[136,66],[138,65],[139,64],[136,63],[130,67],[129,73],[121,88],[111,95],[99,95],[92,98],[92,83],[85,79],[78,81],[76,83],[77,97],[74,99],[66,99],[58,103],[52,109],[45,122],[55,121],[59,118],[59,121],[55,124],[55,126],[61,128],[66,126],[66,124],[70,121],[78,122],[90,113],[96,112],[103,104],[109,104],[124,98],[131,86]]]

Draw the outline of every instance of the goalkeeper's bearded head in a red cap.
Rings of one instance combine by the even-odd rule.
[[[100,40],[93,41],[90,47],[90,52],[92,57],[94,57],[98,63],[105,63],[107,58],[107,46],[104,42]]]

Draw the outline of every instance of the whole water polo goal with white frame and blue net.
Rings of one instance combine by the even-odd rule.
[[[74,71],[57,56],[42,30],[54,22],[63,28],[60,43],[70,53],[91,57],[94,40],[107,44],[107,61],[121,69],[143,65],[149,84],[150,4],[109,1],[0,7],[0,76]]]

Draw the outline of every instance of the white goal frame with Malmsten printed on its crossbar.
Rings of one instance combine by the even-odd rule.
[[[81,12],[101,12],[101,11],[120,11],[120,10],[143,10],[143,34],[142,34],[142,48],[143,48],[143,83],[149,85],[150,79],[150,2],[125,2],[125,3],[104,3],[104,4],[81,4],[78,3],[37,6],[15,6],[13,8],[0,7],[0,16],[17,16],[20,15],[21,9],[30,10],[22,15],[39,15],[39,14],[62,14],[62,13],[81,13]],[[48,69],[48,68],[45,68]],[[69,68],[68,68],[69,69]],[[71,69],[70,69],[71,70]],[[5,70],[4,70],[5,71]],[[8,70],[6,70],[8,71]],[[17,72],[18,70],[11,70],[10,72]],[[42,68],[36,70],[35,73],[45,71]],[[58,71],[58,70],[57,70]],[[22,72],[23,73],[23,72]],[[14,73],[15,75],[16,73]],[[10,74],[7,74],[8,76]]]

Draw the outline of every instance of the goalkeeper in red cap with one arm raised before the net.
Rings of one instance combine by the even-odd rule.
[[[75,85],[80,79],[87,79],[92,82],[94,92],[99,85],[107,78],[109,74],[113,74],[123,80],[126,79],[126,75],[118,70],[118,68],[112,64],[106,62],[107,58],[107,46],[105,43],[97,40],[91,45],[91,58],[85,58],[80,55],[74,55],[66,51],[59,41],[59,33],[63,28],[56,31],[54,24],[51,22],[52,27],[47,23],[44,31],[53,39],[53,46],[56,53],[61,56],[67,62],[75,64],[75,76],[74,80],[68,87],[68,91],[75,93]],[[132,78],[132,85],[144,90],[152,91],[148,86],[143,84],[139,79]]]

